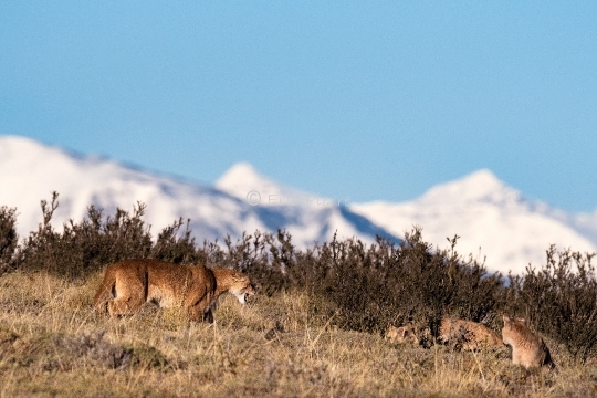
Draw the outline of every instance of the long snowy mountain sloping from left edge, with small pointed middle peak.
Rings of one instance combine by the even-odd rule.
[[[235,191],[234,179],[244,181]],[[18,232],[21,238],[41,222],[41,199],[60,193],[60,206],[53,224],[61,227],[72,218],[81,221],[90,205],[113,214],[116,207],[133,210],[137,201],[147,205],[144,220],[157,233],[179,217],[191,219],[191,229],[199,242],[222,241],[227,234],[240,237],[243,231],[275,232],[286,229],[298,247],[341,238],[358,237],[373,242],[376,234],[397,240],[363,216],[332,203],[308,207],[282,202],[252,202],[247,191],[281,193],[273,182],[259,176],[250,166],[239,165],[219,181],[222,189],[159,176],[98,157],[82,157],[29,138],[0,136],[0,206],[18,209]],[[298,191],[284,191],[297,197]],[[256,206],[255,206],[256,205]]]

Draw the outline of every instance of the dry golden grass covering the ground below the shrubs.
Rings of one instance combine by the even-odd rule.
[[[597,369],[551,344],[559,373],[513,366],[509,350],[457,353],[337,329],[301,292],[226,296],[216,323],[147,306],[91,311],[101,274],[0,276],[0,396],[594,396]],[[317,303],[322,305],[322,303]]]

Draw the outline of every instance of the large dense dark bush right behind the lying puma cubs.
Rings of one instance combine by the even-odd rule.
[[[366,248],[358,240],[334,239],[316,253],[314,290],[336,304],[339,326],[360,332],[416,323],[437,335],[446,315],[492,317],[504,305],[501,275],[463,261],[453,250],[455,240],[448,252],[423,242],[419,228],[399,245],[378,239]]]

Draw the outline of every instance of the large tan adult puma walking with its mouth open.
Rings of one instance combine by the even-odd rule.
[[[212,310],[226,292],[244,304],[255,293],[249,276],[205,265],[184,266],[164,261],[124,260],[107,268],[94,298],[94,307],[112,316],[129,315],[147,302],[160,307],[184,307],[193,321],[213,321]]]

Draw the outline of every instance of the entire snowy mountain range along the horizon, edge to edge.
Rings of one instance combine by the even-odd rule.
[[[285,187],[259,175],[249,164],[232,166],[213,187],[156,175],[117,161],[84,157],[29,138],[0,136],[0,206],[18,209],[21,238],[41,221],[41,199],[60,193],[54,226],[81,221],[90,205],[114,213],[147,203],[145,221],[154,233],[179,217],[191,219],[198,242],[220,241],[243,231],[286,229],[300,248],[332,239],[357,237],[370,243],[376,234],[399,241],[417,224],[423,240],[446,248],[460,235],[457,250],[482,260],[490,270],[515,273],[543,264],[545,250],[597,252],[597,211],[572,214],[525,199],[491,171],[431,188],[400,203],[350,203]]]

